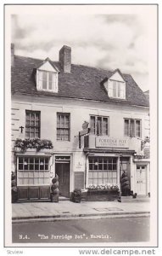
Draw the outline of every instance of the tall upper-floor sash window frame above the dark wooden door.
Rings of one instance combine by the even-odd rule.
[[[58,116],[64,116],[64,126],[65,126],[65,116],[68,116],[69,120],[68,120],[68,125],[69,127],[58,127]],[[58,142],[70,142],[70,113],[62,113],[62,112],[57,112],[56,113],[56,140]],[[61,126],[61,118],[60,118],[60,121],[59,121],[59,126]],[[60,132],[58,132],[60,131]],[[61,131],[68,131],[68,140],[66,139],[63,139],[61,137],[65,137],[66,134],[65,133],[62,133],[61,134]],[[60,137],[60,138],[59,138]]]

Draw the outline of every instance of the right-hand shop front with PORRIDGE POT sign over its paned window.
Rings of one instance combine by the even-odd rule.
[[[87,188],[118,186],[121,192],[121,177],[124,173],[130,186],[129,193],[135,191],[133,157],[136,148],[130,145],[129,139],[89,134],[85,137],[83,150],[87,156]]]

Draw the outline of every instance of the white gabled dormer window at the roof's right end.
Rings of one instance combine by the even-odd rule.
[[[126,81],[119,69],[109,79],[104,80],[103,84],[110,98],[126,99]]]

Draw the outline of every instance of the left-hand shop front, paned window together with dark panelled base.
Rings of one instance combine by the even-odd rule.
[[[18,200],[50,199],[51,155],[17,154]]]

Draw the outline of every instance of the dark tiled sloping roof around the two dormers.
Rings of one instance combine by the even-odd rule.
[[[71,73],[61,70],[59,61],[51,61],[53,67],[59,69],[59,92],[36,90],[33,70],[42,64],[42,60],[23,56],[14,56],[14,67],[11,69],[11,91],[13,94],[35,96],[57,96],[87,99],[100,102],[119,102],[121,104],[148,107],[149,103],[143,91],[130,74],[122,74],[126,81],[126,100],[109,98],[103,88],[102,81],[114,72],[95,67],[71,65]]]

